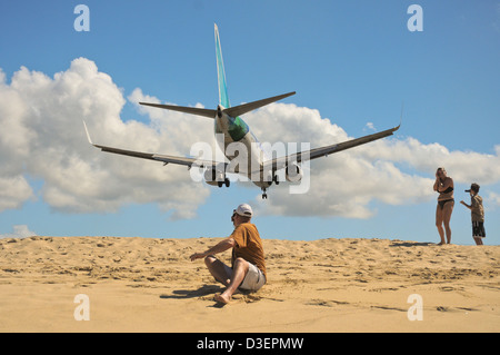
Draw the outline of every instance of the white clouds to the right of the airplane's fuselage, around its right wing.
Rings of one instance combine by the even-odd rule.
[[[264,107],[247,118],[264,141],[309,141],[314,148],[353,138],[318,110],[289,103]],[[459,184],[498,183],[499,156],[500,146],[496,155],[486,155],[390,137],[311,161],[307,194],[290,195],[280,186],[273,188],[269,200],[263,203],[258,197],[256,203],[259,213],[267,215],[369,218],[376,214],[376,201],[409,205],[434,198],[433,176],[439,166],[444,166]]]

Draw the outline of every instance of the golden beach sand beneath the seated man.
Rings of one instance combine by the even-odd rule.
[[[0,332],[500,331],[500,246],[264,239],[268,284],[221,307],[188,258],[218,240],[0,239]]]

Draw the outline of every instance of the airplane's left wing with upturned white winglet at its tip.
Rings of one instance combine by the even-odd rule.
[[[220,165],[223,165],[223,169],[226,169],[226,166],[227,166],[227,162],[222,162],[222,161],[203,160],[203,159],[189,158],[189,157],[167,156],[167,155],[161,155],[161,154],[126,150],[126,149],[120,149],[120,148],[113,148],[113,147],[96,145],[90,139],[89,130],[87,129],[87,125],[86,125],[84,121],[83,121],[83,126],[86,128],[87,139],[89,140],[89,142],[92,146],[94,146],[96,148],[101,149],[102,151],[119,154],[119,155],[129,156],[129,157],[136,157],[136,158],[142,158],[142,159],[149,159],[149,160],[156,160],[156,161],[162,161],[164,165],[170,164],[170,162],[171,164],[177,164],[177,165],[183,165],[183,166],[187,166],[188,168],[191,168],[191,167],[194,166],[194,167],[200,167],[200,168],[220,167],[222,169],[222,167]]]

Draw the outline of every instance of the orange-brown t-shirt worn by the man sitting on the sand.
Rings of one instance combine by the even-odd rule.
[[[234,228],[231,237],[237,243],[234,248],[232,248],[232,265],[234,265],[236,258],[241,257],[256,265],[268,278],[262,239],[260,239],[257,227],[251,223],[242,223]]]

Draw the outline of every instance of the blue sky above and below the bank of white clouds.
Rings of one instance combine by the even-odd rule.
[[[73,29],[78,16],[73,9],[79,3],[90,9],[89,32]],[[422,32],[410,32],[407,28],[411,16],[407,9],[412,3],[423,9]],[[448,165],[451,177],[466,176],[456,179],[453,241],[472,243],[469,211],[458,201],[468,200],[463,189],[472,180],[467,178],[477,176],[480,195],[486,198],[489,236],[486,244],[498,244],[500,176],[488,169],[490,161],[499,161],[496,146],[500,131],[500,1],[16,1],[1,7],[0,68],[6,86],[13,88],[11,80],[21,67],[54,80],[56,73],[69,71],[71,62],[83,57],[119,88],[123,96],[119,116],[123,122],[151,121],[151,114],[138,110],[128,99],[137,88],[143,95],[176,105],[201,103],[208,108],[217,105],[214,22],[219,26],[233,105],[296,90],[297,95],[283,102],[316,109],[349,137],[359,137],[371,132],[368,122],[377,130],[398,125],[404,101],[402,127],[396,140],[391,140],[393,149],[397,141],[416,139],[421,146],[417,156],[438,144],[453,152],[452,167],[472,170],[452,171]],[[30,106],[29,100],[26,105]],[[253,117],[246,121],[259,131],[259,139],[267,141],[273,137],[267,134],[267,127],[256,128]],[[68,121],[71,119],[68,117]],[[182,120],[194,128],[200,122],[200,118],[190,116],[183,116]],[[176,122],[171,125],[174,127]],[[83,135],[80,119],[73,127]],[[203,134],[211,136],[212,130]],[[301,138],[300,131],[294,134],[297,139]],[[100,142],[107,142],[106,132],[99,131],[97,136]],[[89,147],[82,149],[89,149],[84,156],[92,159],[92,155],[103,155]],[[342,159],[342,155],[334,159]],[[344,155],[344,159],[350,157]],[[486,162],[474,164],[477,157]],[[0,158],[9,159],[1,154]],[[433,178],[433,171],[422,168],[422,164],[407,158],[384,159],[399,171],[418,177],[420,183]],[[18,172],[28,181],[32,196],[14,208],[0,210],[0,235],[10,234],[16,225],[26,225],[38,235],[52,236],[222,237],[231,233],[232,208],[243,201],[261,204],[257,199],[258,188],[234,184],[230,189],[203,186],[207,196],[193,203],[196,213],[190,218],[172,219],[176,208],[161,208],[158,199],[140,197],[120,200],[109,209],[73,210],[61,204],[56,206],[46,197],[46,189],[57,178],[32,172],[40,170],[30,169],[31,164],[28,156]],[[154,165],[141,164],[144,175]],[[311,164],[311,169],[321,170],[321,164]],[[332,169],[330,166],[326,171],[332,174]],[[13,172],[6,169],[3,174]],[[366,179],[370,177],[363,177],[359,184]],[[174,181],[167,185],[170,186],[166,189],[172,188]],[[344,196],[328,190],[327,196],[331,197],[330,204],[336,204],[334,196],[356,199],[356,191],[354,188]],[[123,195],[128,193],[124,190]],[[278,193],[271,188],[270,199]],[[419,241],[439,238],[434,195],[391,203],[392,197],[374,193],[373,198],[368,196],[363,203],[363,208],[371,211],[364,217],[314,216],[302,214],[303,206],[297,207],[297,213],[278,213],[278,203],[313,204],[307,197],[289,203],[284,198],[281,194],[274,203],[271,200],[272,208],[256,206],[268,211],[254,219],[262,237],[379,237]]]

